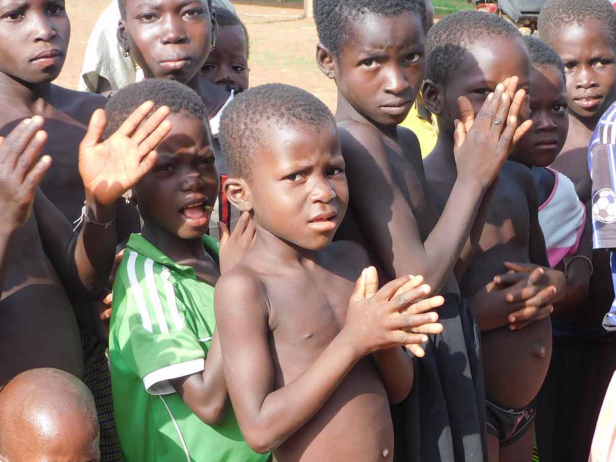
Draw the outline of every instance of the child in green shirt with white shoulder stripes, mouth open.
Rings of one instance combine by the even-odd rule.
[[[213,293],[240,246],[223,245],[219,265],[217,242],[201,241],[219,187],[205,105],[184,84],[146,79],[111,98],[106,133],[150,98],[169,107],[172,129],[153,169],[125,184],[144,225],[113,286],[111,384],[124,460],[265,461],[225,411]]]

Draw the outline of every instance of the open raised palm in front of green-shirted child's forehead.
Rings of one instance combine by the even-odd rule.
[[[102,141],[107,116],[102,109],[92,114],[86,136],[79,145],[79,174],[86,198],[108,206],[139,182],[156,164],[156,147],[171,130],[166,120],[169,108],[154,107],[152,101],[140,105],[121,127]]]

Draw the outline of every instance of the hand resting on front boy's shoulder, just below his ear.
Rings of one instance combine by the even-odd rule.
[[[240,215],[240,219],[235,224],[232,233],[229,233],[227,226],[223,222],[218,222],[218,231],[221,237],[219,252],[221,274],[224,274],[246,256],[253,247],[257,233],[254,228],[253,219],[248,212],[243,212]]]

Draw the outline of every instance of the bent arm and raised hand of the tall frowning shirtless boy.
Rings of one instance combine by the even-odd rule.
[[[481,198],[500,171],[516,135],[517,113],[524,91],[516,94],[516,100],[510,105],[504,89],[502,84],[498,85],[493,97],[486,100],[477,114],[463,144],[456,147],[458,179],[439,221],[425,241],[412,209],[413,200],[428,200],[421,198],[423,179],[413,178],[416,185],[411,185],[411,195],[415,197],[405,197],[376,129],[360,126],[353,134],[340,130],[351,200],[365,234],[371,237],[375,254],[381,256],[381,266],[390,276],[424,275],[436,292],[444,285],[469,237]],[[458,138],[459,132],[456,130]]]

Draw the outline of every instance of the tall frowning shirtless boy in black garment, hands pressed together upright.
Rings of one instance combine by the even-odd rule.
[[[460,147],[455,193],[437,220],[417,139],[397,128],[424,77],[424,0],[315,0],[314,14],[317,63],[338,86],[336,121],[351,190],[352,207],[339,237],[362,242],[383,279],[422,274],[436,293],[447,294],[439,310],[444,333],[428,344],[434,354],[418,362],[419,385],[399,410],[397,455],[400,460],[481,460],[479,341],[453,267],[514,136],[516,128],[505,119],[507,111],[502,113],[509,109],[509,96],[499,86],[493,103],[502,115],[481,113],[483,124],[471,129],[493,126],[491,136],[469,136]],[[455,104],[456,95],[450,100]],[[518,108],[519,102],[511,105],[510,116],[517,116]],[[429,418],[431,413],[436,417]]]

